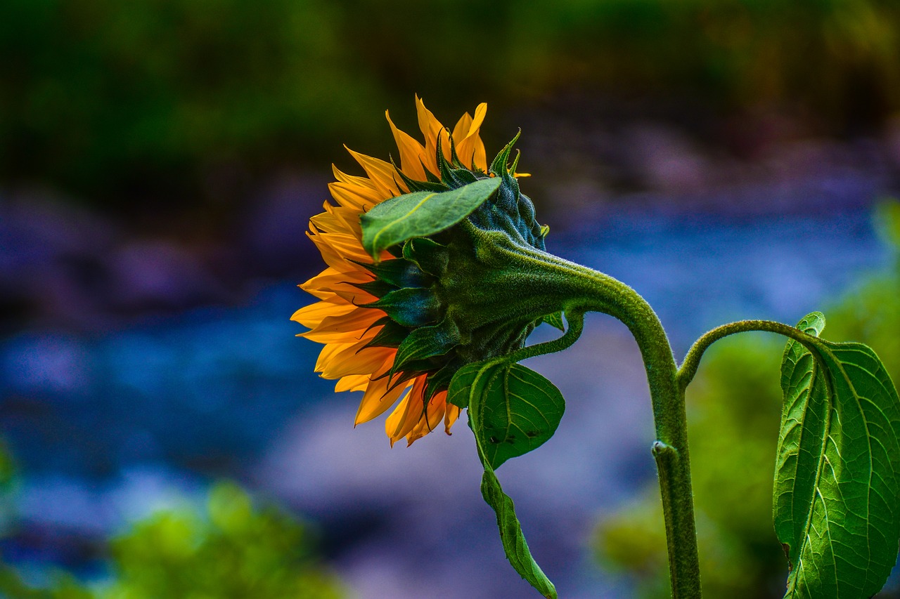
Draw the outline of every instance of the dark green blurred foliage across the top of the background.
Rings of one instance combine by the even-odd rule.
[[[475,0],[4,0],[0,180],[193,199],[222,165],[377,144],[371,115],[414,92],[439,114],[572,86],[699,92],[725,108],[801,103],[837,128],[900,108],[892,0],[498,0],[490,12],[479,18]]]

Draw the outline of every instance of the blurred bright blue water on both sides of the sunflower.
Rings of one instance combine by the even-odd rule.
[[[642,293],[676,353],[727,320],[795,322],[889,259],[865,210],[779,219],[622,210],[554,232],[548,249]],[[30,525],[99,536],[121,525],[129,510],[113,507],[123,502],[252,477],[286,423],[333,397],[332,383],[311,374],[320,345],[293,336],[302,329],[289,317],[311,300],[295,283],[103,334],[31,330],[0,341],[0,434],[25,487],[33,482],[22,505]],[[634,487],[621,471],[608,484]]]

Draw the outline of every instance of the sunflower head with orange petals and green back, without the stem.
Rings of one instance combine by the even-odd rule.
[[[337,205],[326,202],[308,233],[329,267],[301,286],[320,301],[293,316],[311,329],[302,336],[325,344],[316,365],[321,376],[338,379],[337,390],[364,391],[357,424],[401,399],[386,422],[392,443],[404,436],[412,443],[441,420],[449,434],[459,414],[446,402],[455,372],[518,349],[540,313],[554,311],[536,311],[528,282],[509,264],[510,248],[543,251],[547,232],[519,190],[518,154],[510,164],[518,135],[488,165],[479,135],[485,104],[474,117],[464,114],[452,132],[418,98],[417,107],[424,143],[388,116],[400,165],[349,150],[366,176],[335,169],[338,181],[329,189]],[[393,198],[394,205],[444,198],[458,211],[457,196],[471,199],[473,189],[488,195],[451,226],[370,243],[374,214]],[[397,227],[407,218],[395,219]]]

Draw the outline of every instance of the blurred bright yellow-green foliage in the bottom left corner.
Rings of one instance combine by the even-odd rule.
[[[63,572],[35,588],[0,565],[10,599],[340,599],[338,578],[313,552],[310,533],[275,507],[256,508],[231,483],[212,487],[206,509],[157,512],[112,539],[112,577],[85,586]]]

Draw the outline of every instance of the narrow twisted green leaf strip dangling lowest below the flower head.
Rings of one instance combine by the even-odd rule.
[[[491,461],[486,456],[485,446],[482,441],[484,438],[481,431],[484,429],[485,399],[490,400],[491,395],[496,392],[493,389],[497,389],[498,381],[509,380],[513,367],[516,366],[518,364],[509,364],[502,358],[467,364],[456,372],[453,380],[450,382],[447,400],[455,406],[469,408],[469,426],[472,427],[475,434],[478,457],[482,460],[482,465],[484,466],[482,496],[497,515],[500,541],[503,543],[503,550],[507,559],[509,559],[509,563],[516,569],[519,576],[525,578],[542,595],[550,599],[556,599],[556,588],[532,557],[525,535],[522,533],[522,527],[516,517],[515,505],[513,505],[512,499],[503,493],[500,481],[494,474],[494,469],[491,468]],[[524,371],[528,370],[522,366],[518,366],[518,368]],[[531,375],[540,377],[536,372],[531,372]],[[524,375],[522,378],[531,380],[531,377],[528,375]],[[543,377],[540,378],[544,379]],[[531,383],[529,382],[529,384]],[[551,387],[553,386],[549,381],[547,381],[547,384]],[[518,383],[513,383],[513,385],[514,387],[519,387]],[[556,393],[559,393],[559,391],[557,390]]]

